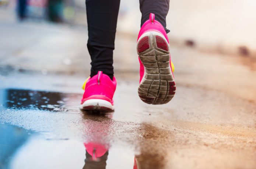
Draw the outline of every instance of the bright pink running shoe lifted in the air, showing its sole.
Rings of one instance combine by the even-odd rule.
[[[148,104],[168,103],[176,91],[172,73],[174,67],[168,36],[152,13],[138,34],[137,53],[140,61],[140,99]]]

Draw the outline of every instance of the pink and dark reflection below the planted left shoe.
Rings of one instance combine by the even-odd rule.
[[[105,169],[109,143],[104,140],[109,136],[113,112],[82,112],[85,120],[85,134],[88,137],[84,143],[86,159],[83,169]]]

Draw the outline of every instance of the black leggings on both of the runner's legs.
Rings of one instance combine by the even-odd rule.
[[[103,71],[113,78],[113,50],[115,49],[116,22],[120,0],[86,0],[88,43],[91,56],[91,77]],[[150,13],[166,28],[169,0],[140,0],[141,26]],[[133,23],[131,23],[133,24]],[[166,29],[166,32],[169,30]]]

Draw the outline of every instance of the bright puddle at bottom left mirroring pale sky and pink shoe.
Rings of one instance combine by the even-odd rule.
[[[131,169],[134,165],[134,152],[129,148],[47,140],[31,130],[6,123],[0,124],[0,138],[1,169]]]

